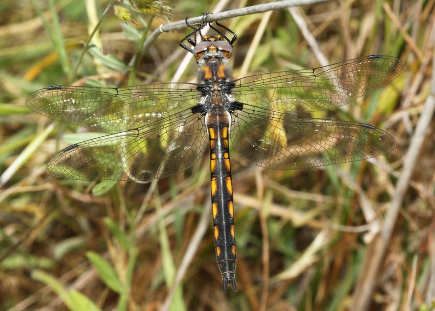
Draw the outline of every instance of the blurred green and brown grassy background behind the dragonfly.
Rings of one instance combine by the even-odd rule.
[[[110,69],[88,53],[73,78],[82,42],[95,25],[89,10],[95,5],[62,0],[53,14],[49,3],[0,3],[2,178],[7,168],[15,168],[0,188],[0,310],[158,310],[189,247],[194,257],[175,289],[173,310],[350,310],[357,287],[371,281],[376,286],[369,310],[430,309],[425,302],[434,297],[435,122],[427,129],[376,279],[364,279],[363,263],[376,255],[374,241],[430,93],[433,64],[425,60],[433,53],[428,45],[433,0],[334,1],[299,8],[329,63],[370,54],[405,61],[407,71],[392,84],[315,115],[380,127],[398,147],[375,162],[296,171],[252,167],[233,152],[238,292],[225,295],[211,215],[209,210],[203,214],[210,205],[207,154],[187,172],[147,184],[45,174],[50,157],[77,139],[63,135],[84,135],[84,129],[32,113],[26,97],[51,85],[128,83],[128,72]],[[97,1],[97,14],[107,4]],[[184,0],[169,5],[172,20],[181,20],[211,12],[216,4]],[[254,4],[237,0],[224,10]],[[151,30],[162,23],[155,18]],[[288,10],[221,23],[239,37],[235,77],[319,66]],[[128,64],[143,29],[127,38],[110,11],[99,31],[96,43],[100,40],[104,53]],[[187,32],[161,34],[130,82],[170,81],[185,55],[178,45]],[[256,35],[258,45],[253,44]],[[196,69],[190,61],[180,81],[194,80]],[[206,232],[196,240],[198,224],[205,224]]]

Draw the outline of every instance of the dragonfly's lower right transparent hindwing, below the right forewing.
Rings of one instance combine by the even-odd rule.
[[[237,111],[231,140],[248,162],[278,170],[359,161],[396,148],[388,133],[363,123],[258,108]]]

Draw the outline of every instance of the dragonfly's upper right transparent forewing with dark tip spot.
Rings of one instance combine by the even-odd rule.
[[[253,75],[233,81],[231,94],[245,105],[280,112],[320,111],[371,93],[405,70],[402,60],[373,55],[325,67]]]

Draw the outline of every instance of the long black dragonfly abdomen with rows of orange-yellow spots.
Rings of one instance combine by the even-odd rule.
[[[236,291],[234,209],[228,148],[229,120],[229,113],[224,110],[212,111],[206,117],[210,138],[214,248],[217,265],[224,281],[224,293],[227,285],[231,285]]]

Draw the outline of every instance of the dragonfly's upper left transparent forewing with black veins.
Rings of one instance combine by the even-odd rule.
[[[55,86],[32,93],[26,105],[61,122],[92,130],[123,131],[190,109],[197,85],[168,83],[122,88]]]

